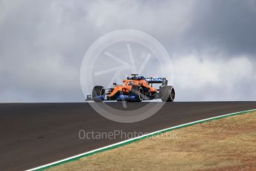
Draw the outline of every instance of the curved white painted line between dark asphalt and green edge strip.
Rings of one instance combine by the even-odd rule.
[[[51,165],[58,164],[58,163],[61,163],[61,162],[63,162],[63,161],[68,161],[68,160],[71,160],[71,159],[73,159],[73,158],[80,157],[80,156],[82,156],[82,155],[87,155],[87,154],[89,154],[89,153],[97,152],[97,151],[100,151],[100,150],[102,150],[102,149],[107,149],[107,148],[109,148],[109,147],[116,146],[116,145],[119,145],[119,144],[121,144],[121,143],[127,143],[127,142],[129,142],[129,141],[133,141],[133,140],[136,140],[136,139],[139,139],[139,138],[144,138],[144,137],[147,137],[147,136],[149,136],[149,135],[157,134],[157,133],[159,133],[159,132],[164,132],[164,131],[166,131],[166,130],[168,130],[168,129],[175,129],[175,128],[177,128],[177,127],[186,126],[186,125],[190,125],[190,124],[193,124],[193,123],[199,123],[199,122],[202,122],[202,121],[205,121],[205,120],[212,120],[212,119],[216,119],[216,118],[219,118],[219,117],[225,117],[225,116],[232,115],[232,114],[239,114],[239,113],[243,113],[243,112],[253,112],[253,111],[256,111],[256,109],[251,109],[251,110],[246,110],[246,111],[241,111],[241,112],[234,112],[234,113],[230,113],[230,114],[223,114],[223,115],[220,115],[220,116],[217,116],[217,117],[208,117],[208,118],[206,118],[206,119],[196,120],[196,121],[193,121],[193,122],[190,122],[190,123],[183,123],[183,124],[178,125],[178,126],[172,126],[172,127],[170,127],[170,128],[161,129],[161,130],[159,130],[159,131],[151,132],[151,133],[148,133],[148,134],[146,134],[146,135],[141,135],[141,136],[138,136],[138,137],[135,137],[135,138],[130,138],[130,139],[126,140],[126,141],[120,141],[120,142],[118,142],[118,143],[112,143],[112,144],[110,144],[110,145],[108,145],[108,146],[103,146],[103,147],[100,147],[100,148],[98,148],[98,149],[93,149],[93,150],[91,150],[91,151],[89,151],[89,152],[83,152],[83,153],[81,153],[81,154],[79,154],[79,155],[74,155],[74,156],[71,156],[71,157],[69,157],[69,158],[64,158],[64,159],[62,159],[62,160],[60,160],[60,161],[54,161],[54,162],[52,162],[52,163],[50,163],[50,164],[45,164],[45,165],[42,165],[42,166],[39,166],[39,167],[34,167],[34,168],[29,169],[29,170],[26,170],[26,171],[39,170],[39,169],[42,169],[42,168],[44,168],[44,167],[50,167]]]

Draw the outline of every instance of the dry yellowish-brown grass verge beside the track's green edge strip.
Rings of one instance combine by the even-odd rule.
[[[49,170],[256,170],[256,112],[177,129]]]

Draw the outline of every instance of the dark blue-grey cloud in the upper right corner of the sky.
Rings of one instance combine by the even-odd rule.
[[[200,1],[183,45],[219,48],[228,54],[255,54],[255,1]],[[185,41],[186,40],[186,41]]]

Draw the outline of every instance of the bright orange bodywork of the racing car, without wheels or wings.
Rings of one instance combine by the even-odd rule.
[[[156,92],[156,88],[151,87],[146,80],[124,80],[123,83],[123,85],[115,86],[108,97],[114,97],[119,91],[122,91],[124,94],[129,94],[129,91],[132,90],[132,86],[144,86],[145,88],[149,88],[150,92]]]

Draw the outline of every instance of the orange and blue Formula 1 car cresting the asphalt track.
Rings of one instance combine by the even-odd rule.
[[[164,102],[172,102],[175,98],[173,86],[167,86],[166,78],[144,78],[138,74],[131,74],[123,81],[123,85],[113,83],[114,88],[103,88],[95,86],[92,95],[88,95],[86,100],[102,102],[103,100],[118,100],[128,102],[141,102],[142,100],[160,99]],[[160,83],[159,89],[153,88],[153,83]]]

